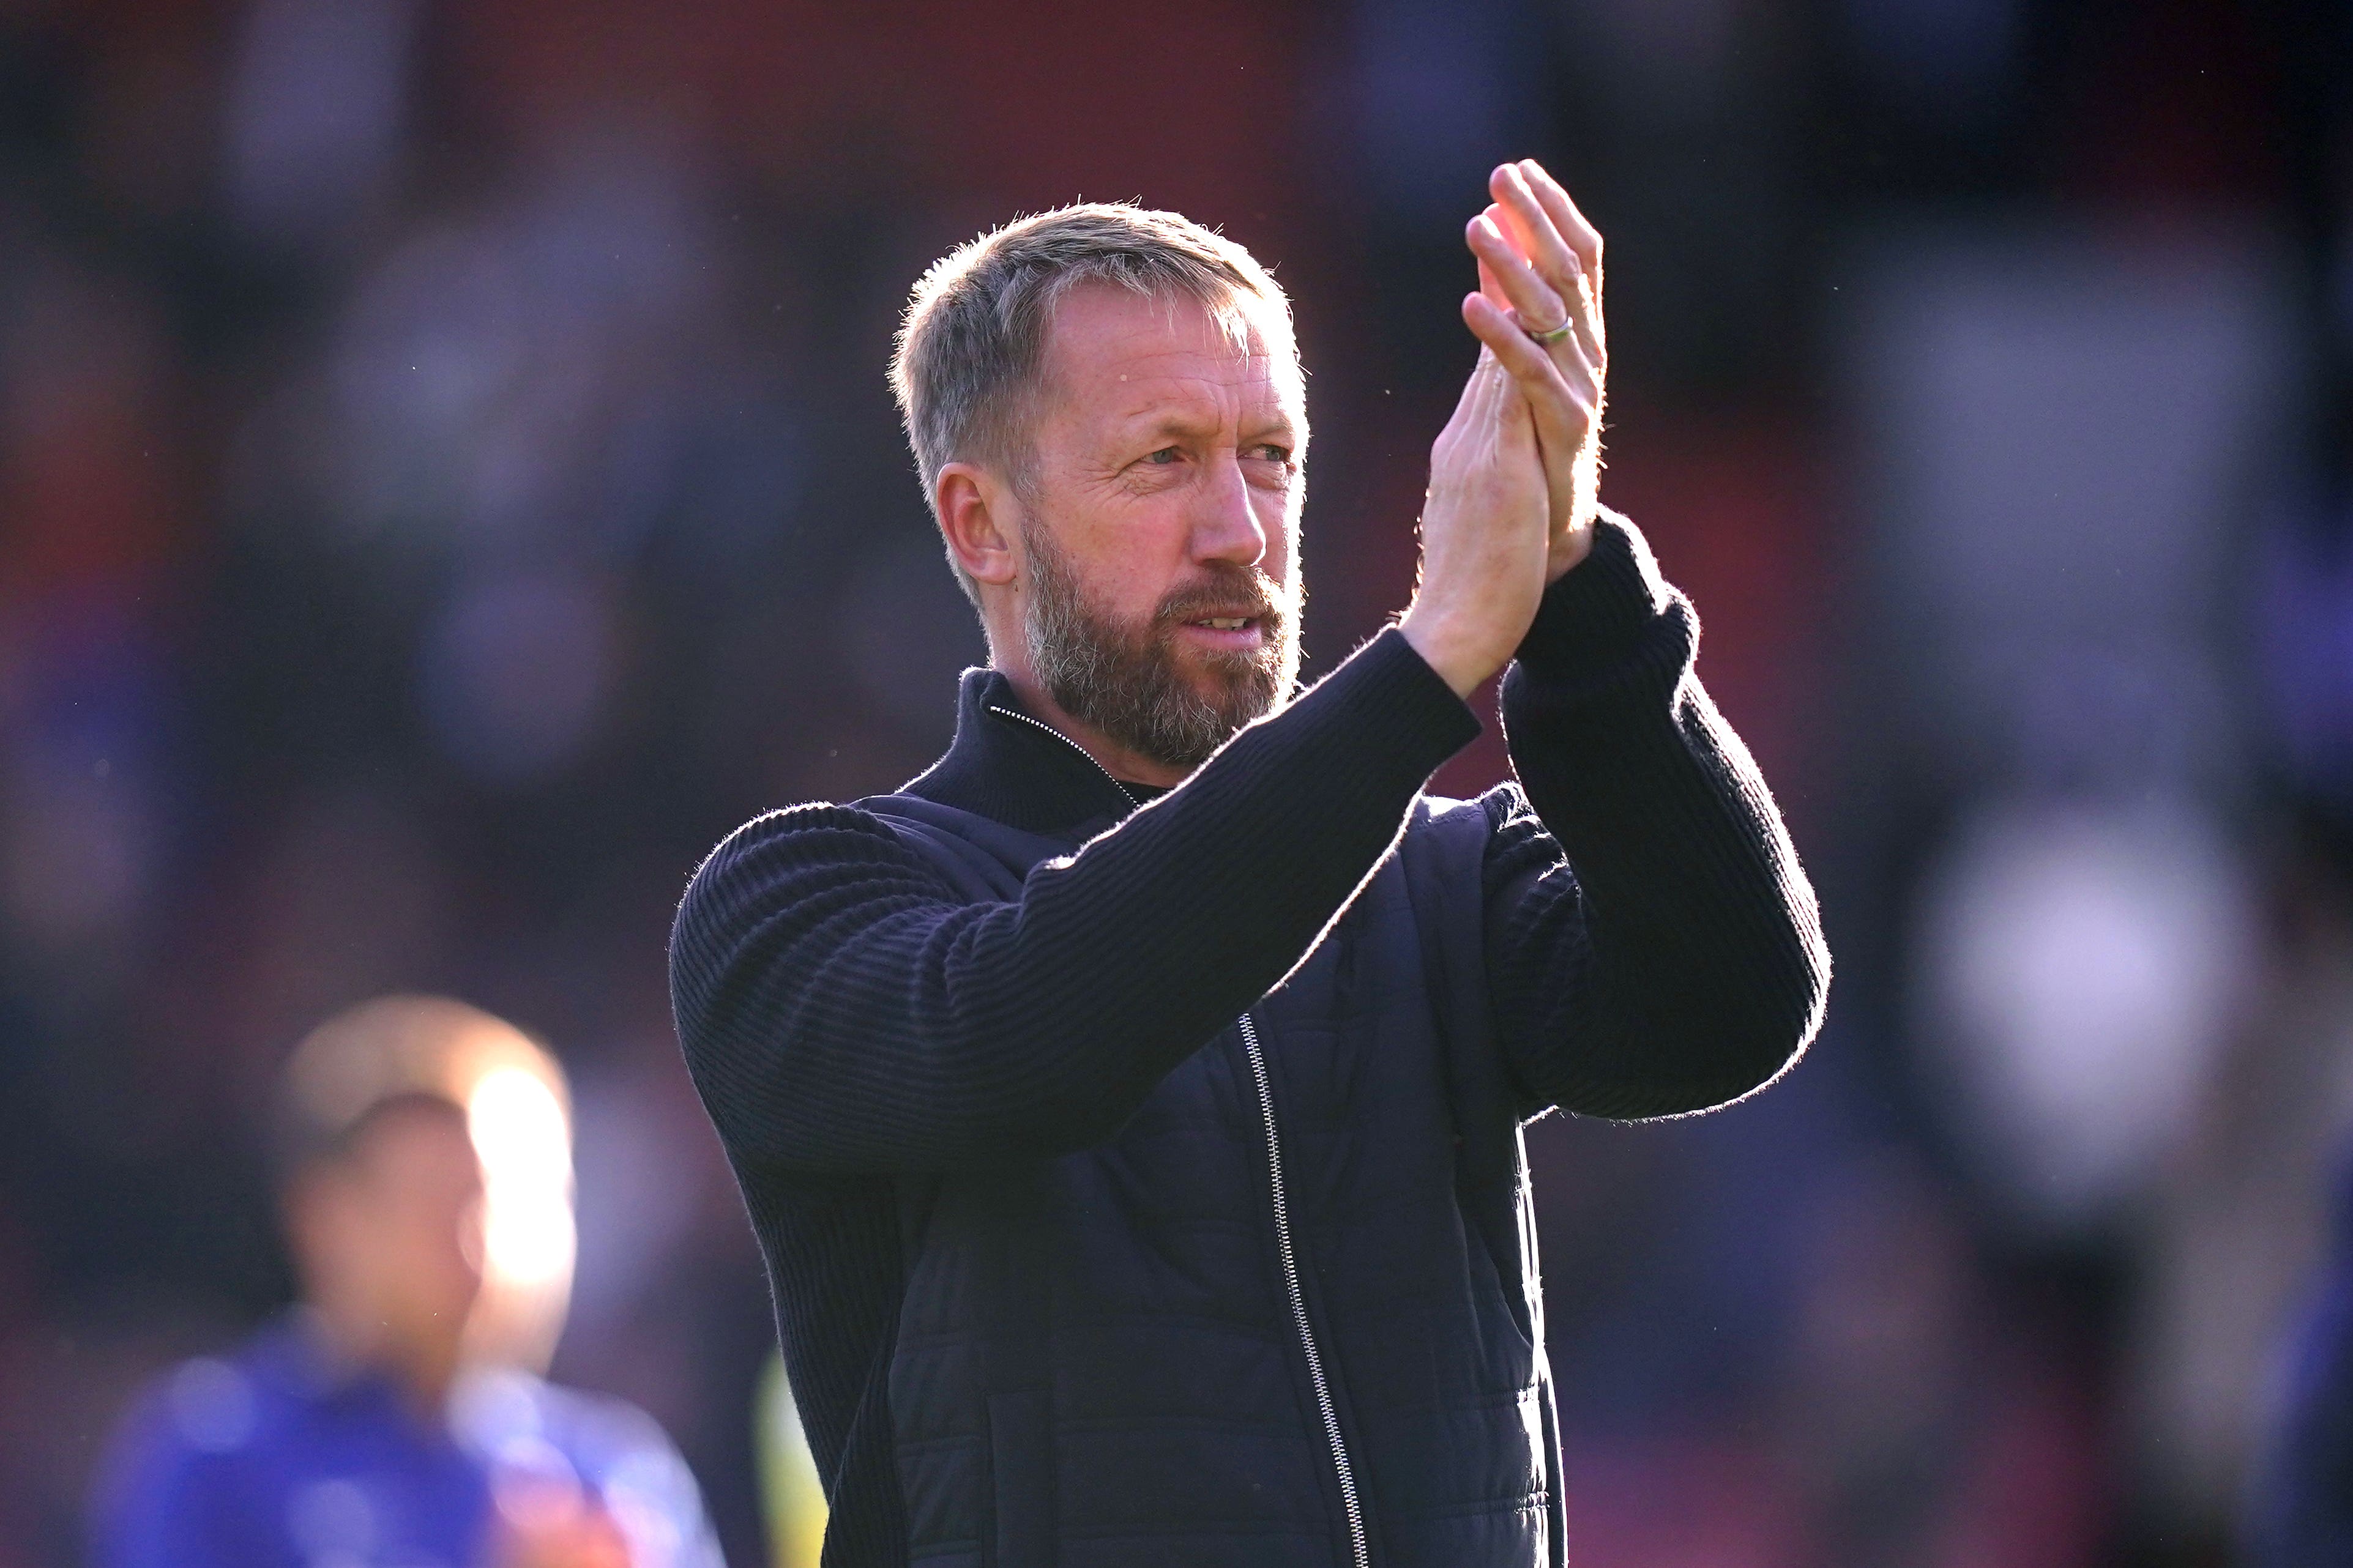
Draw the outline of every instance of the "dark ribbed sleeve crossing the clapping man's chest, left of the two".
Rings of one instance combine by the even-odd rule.
[[[704,1105],[739,1154],[809,1171],[1092,1147],[1308,954],[1475,733],[1384,632],[1014,903],[958,898],[864,811],[758,818],[671,943]]]

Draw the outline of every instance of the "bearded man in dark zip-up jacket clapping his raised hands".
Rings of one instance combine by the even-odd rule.
[[[828,1566],[1565,1561],[1520,1126],[1748,1093],[1828,959],[1689,607],[1595,512],[1600,237],[1534,162],[1492,195],[1412,609],[1297,698],[1264,268],[1071,207],[915,289],[991,668],[896,795],[720,844],[671,954]],[[1513,658],[1525,795],[1424,797]]]

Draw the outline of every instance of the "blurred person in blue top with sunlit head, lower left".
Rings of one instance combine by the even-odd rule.
[[[94,1502],[101,1568],[720,1568],[642,1410],[546,1382],[572,1291],[569,1098],[513,1025],[384,997],[296,1046],[301,1300],[174,1368]]]

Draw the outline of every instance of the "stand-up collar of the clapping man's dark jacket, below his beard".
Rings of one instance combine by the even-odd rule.
[[[1075,741],[1024,712],[998,670],[965,670],[955,743],[899,792],[1068,837],[1092,837],[1136,809],[1136,797]]]

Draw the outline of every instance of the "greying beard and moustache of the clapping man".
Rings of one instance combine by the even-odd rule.
[[[1195,769],[1233,731],[1285,701],[1299,679],[1299,632],[1292,607],[1261,574],[1235,574],[1231,597],[1268,604],[1266,642],[1257,654],[1214,654],[1217,696],[1202,696],[1176,665],[1176,625],[1186,599],[1172,595],[1153,623],[1125,628],[1087,604],[1078,574],[1045,529],[1024,529],[1031,597],[1024,611],[1031,670],[1047,696],[1108,741],[1172,769]],[[1193,614],[1200,614],[1198,609]]]

